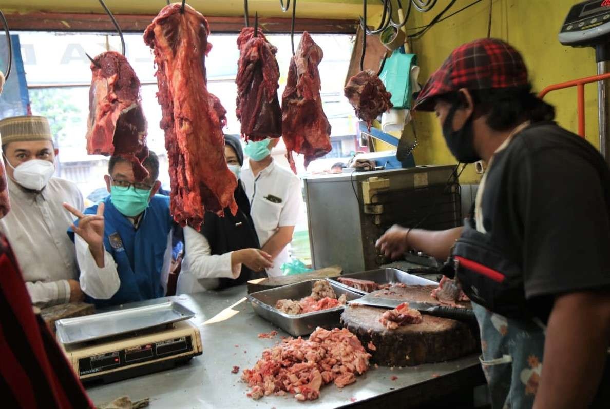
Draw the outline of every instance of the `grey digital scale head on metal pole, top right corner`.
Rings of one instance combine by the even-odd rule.
[[[608,72],[610,61],[610,0],[583,1],[572,6],[559,31],[564,46],[594,47],[597,74]],[[600,152],[610,161],[608,81],[597,83]]]

